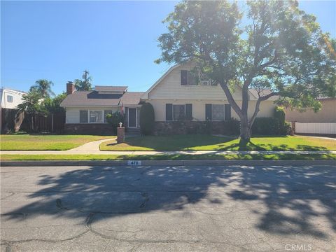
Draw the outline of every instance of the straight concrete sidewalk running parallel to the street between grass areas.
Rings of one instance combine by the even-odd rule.
[[[19,154],[19,155],[202,155],[202,154],[336,154],[336,151],[85,151],[85,150],[69,150],[69,151],[1,151],[0,155]]]

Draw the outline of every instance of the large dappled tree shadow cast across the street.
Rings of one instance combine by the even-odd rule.
[[[240,202],[258,216],[255,228],[259,230],[323,238],[328,234],[314,218],[325,218],[336,231],[335,178],[336,169],[332,167],[72,169],[40,176],[38,184],[43,189],[29,193],[29,204],[3,213],[3,217],[21,221],[22,214],[25,218],[57,218],[60,214],[63,218],[80,218],[83,213],[99,213],[101,218],[114,218],[190,205],[194,209],[222,209],[229,202]]]

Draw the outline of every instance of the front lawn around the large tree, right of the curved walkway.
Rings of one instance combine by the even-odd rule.
[[[336,150],[336,141],[312,137],[253,137],[247,146],[239,139],[209,135],[147,136],[126,139],[123,144],[108,141],[101,151],[324,151]]]

